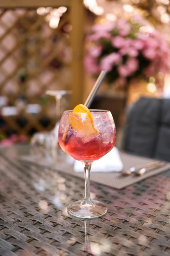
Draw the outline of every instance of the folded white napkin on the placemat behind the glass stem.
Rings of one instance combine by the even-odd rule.
[[[114,147],[101,159],[92,163],[92,172],[120,172],[123,169],[123,163],[121,162],[119,151],[117,147]],[[75,172],[83,172],[83,166],[80,161],[74,163]]]

